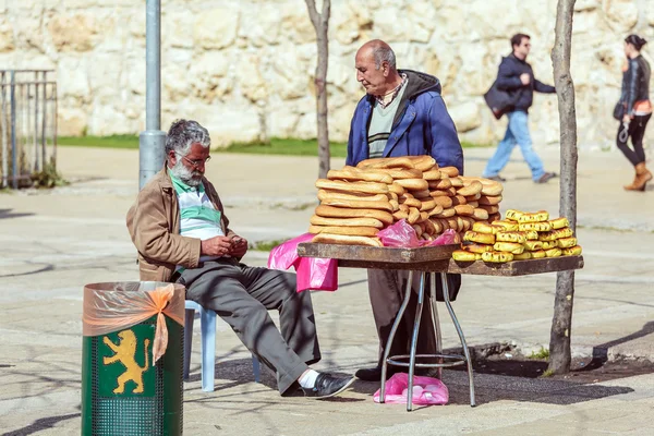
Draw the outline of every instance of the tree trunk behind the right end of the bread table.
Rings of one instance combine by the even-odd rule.
[[[570,47],[572,45],[572,14],[574,0],[558,0],[556,39],[552,51],[554,82],[559,105],[561,179],[561,216],[577,228],[577,114],[574,112],[574,85],[570,76]],[[570,372],[570,335],[572,330],[572,302],[574,271],[558,272],[554,318],[549,335],[549,371],[554,374]]]

